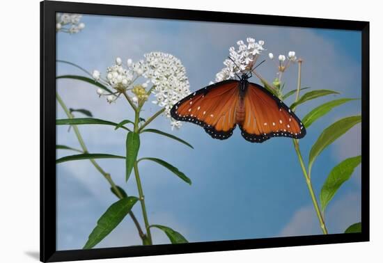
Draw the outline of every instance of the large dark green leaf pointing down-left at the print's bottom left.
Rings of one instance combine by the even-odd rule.
[[[98,219],[97,225],[89,235],[88,241],[86,241],[83,249],[93,248],[102,241],[104,237],[107,237],[107,235],[123,221],[123,218],[130,212],[137,200],[138,198],[130,196],[112,204],[100,219]]]

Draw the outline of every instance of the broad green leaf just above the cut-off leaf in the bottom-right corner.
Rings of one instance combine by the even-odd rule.
[[[322,212],[325,211],[330,200],[334,197],[336,191],[342,186],[344,182],[350,179],[354,169],[361,163],[361,156],[351,157],[345,159],[335,166],[327,177],[325,184],[320,191],[320,204],[322,206]]]

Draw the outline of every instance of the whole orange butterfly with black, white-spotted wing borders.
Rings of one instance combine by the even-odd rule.
[[[220,140],[233,134],[238,125],[251,143],[263,143],[271,137],[302,138],[306,129],[281,99],[262,86],[229,79],[214,83],[181,99],[171,109],[175,120],[193,122]]]

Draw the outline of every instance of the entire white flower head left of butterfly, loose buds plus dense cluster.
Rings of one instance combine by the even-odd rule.
[[[181,127],[181,122],[171,118],[170,110],[173,105],[189,95],[189,81],[186,77],[185,67],[178,58],[171,54],[161,52],[151,52],[144,55],[144,59],[136,63],[128,59],[126,65],[123,65],[121,58],[116,58],[116,63],[107,67],[107,78],[102,79],[100,71],[93,71],[93,78],[111,90],[113,93],[106,93],[99,88],[97,94],[107,96],[107,102],[111,103],[125,92],[131,90],[130,98],[134,104],[145,101],[148,92],[155,95],[153,103],[165,108],[166,118],[171,120],[171,127]],[[140,77],[146,79],[140,84],[135,83]],[[140,78],[141,79],[141,78]],[[142,83],[143,82],[143,83]],[[152,88],[148,84],[152,83]]]

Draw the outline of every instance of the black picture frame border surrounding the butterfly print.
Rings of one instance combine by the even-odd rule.
[[[209,241],[176,245],[56,250],[56,187],[52,187],[56,186],[56,12],[361,31],[361,115],[363,118],[361,123],[361,173],[363,175],[361,177],[362,231],[353,234]],[[93,260],[369,241],[369,72],[369,22],[94,3],[40,2],[40,260],[42,262]]]

